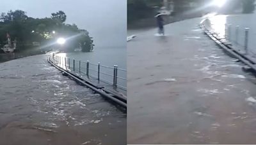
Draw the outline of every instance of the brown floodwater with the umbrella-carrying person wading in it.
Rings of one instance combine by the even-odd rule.
[[[127,43],[128,144],[255,144],[256,79],[193,18]]]

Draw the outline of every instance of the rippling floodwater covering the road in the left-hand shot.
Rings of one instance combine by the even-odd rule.
[[[126,114],[36,55],[0,64],[0,144],[126,144]]]

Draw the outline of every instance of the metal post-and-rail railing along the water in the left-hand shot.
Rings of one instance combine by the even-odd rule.
[[[81,76],[86,76],[88,79],[102,81],[108,85],[113,85],[116,88],[127,90],[127,70],[120,69],[118,66],[113,67],[102,66],[100,62],[93,64],[89,60],[83,62],[81,60],[71,59],[69,57],[61,57],[52,54],[50,60],[61,68],[79,73]]]

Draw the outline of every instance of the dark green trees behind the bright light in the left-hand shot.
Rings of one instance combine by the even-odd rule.
[[[83,52],[93,49],[93,39],[88,31],[79,29],[76,24],[65,24],[67,16],[63,11],[52,13],[51,18],[32,18],[25,11],[16,10],[0,15],[0,45],[6,42],[6,33],[12,41],[17,40],[17,49],[35,48],[33,42],[40,43],[40,48],[58,48],[56,39],[66,38],[67,42],[61,49],[72,52],[82,48]]]

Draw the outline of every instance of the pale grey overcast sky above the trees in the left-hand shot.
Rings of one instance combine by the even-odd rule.
[[[23,10],[29,17],[51,17],[62,10],[68,24],[86,29],[98,46],[125,46],[127,0],[1,0],[0,12]]]

